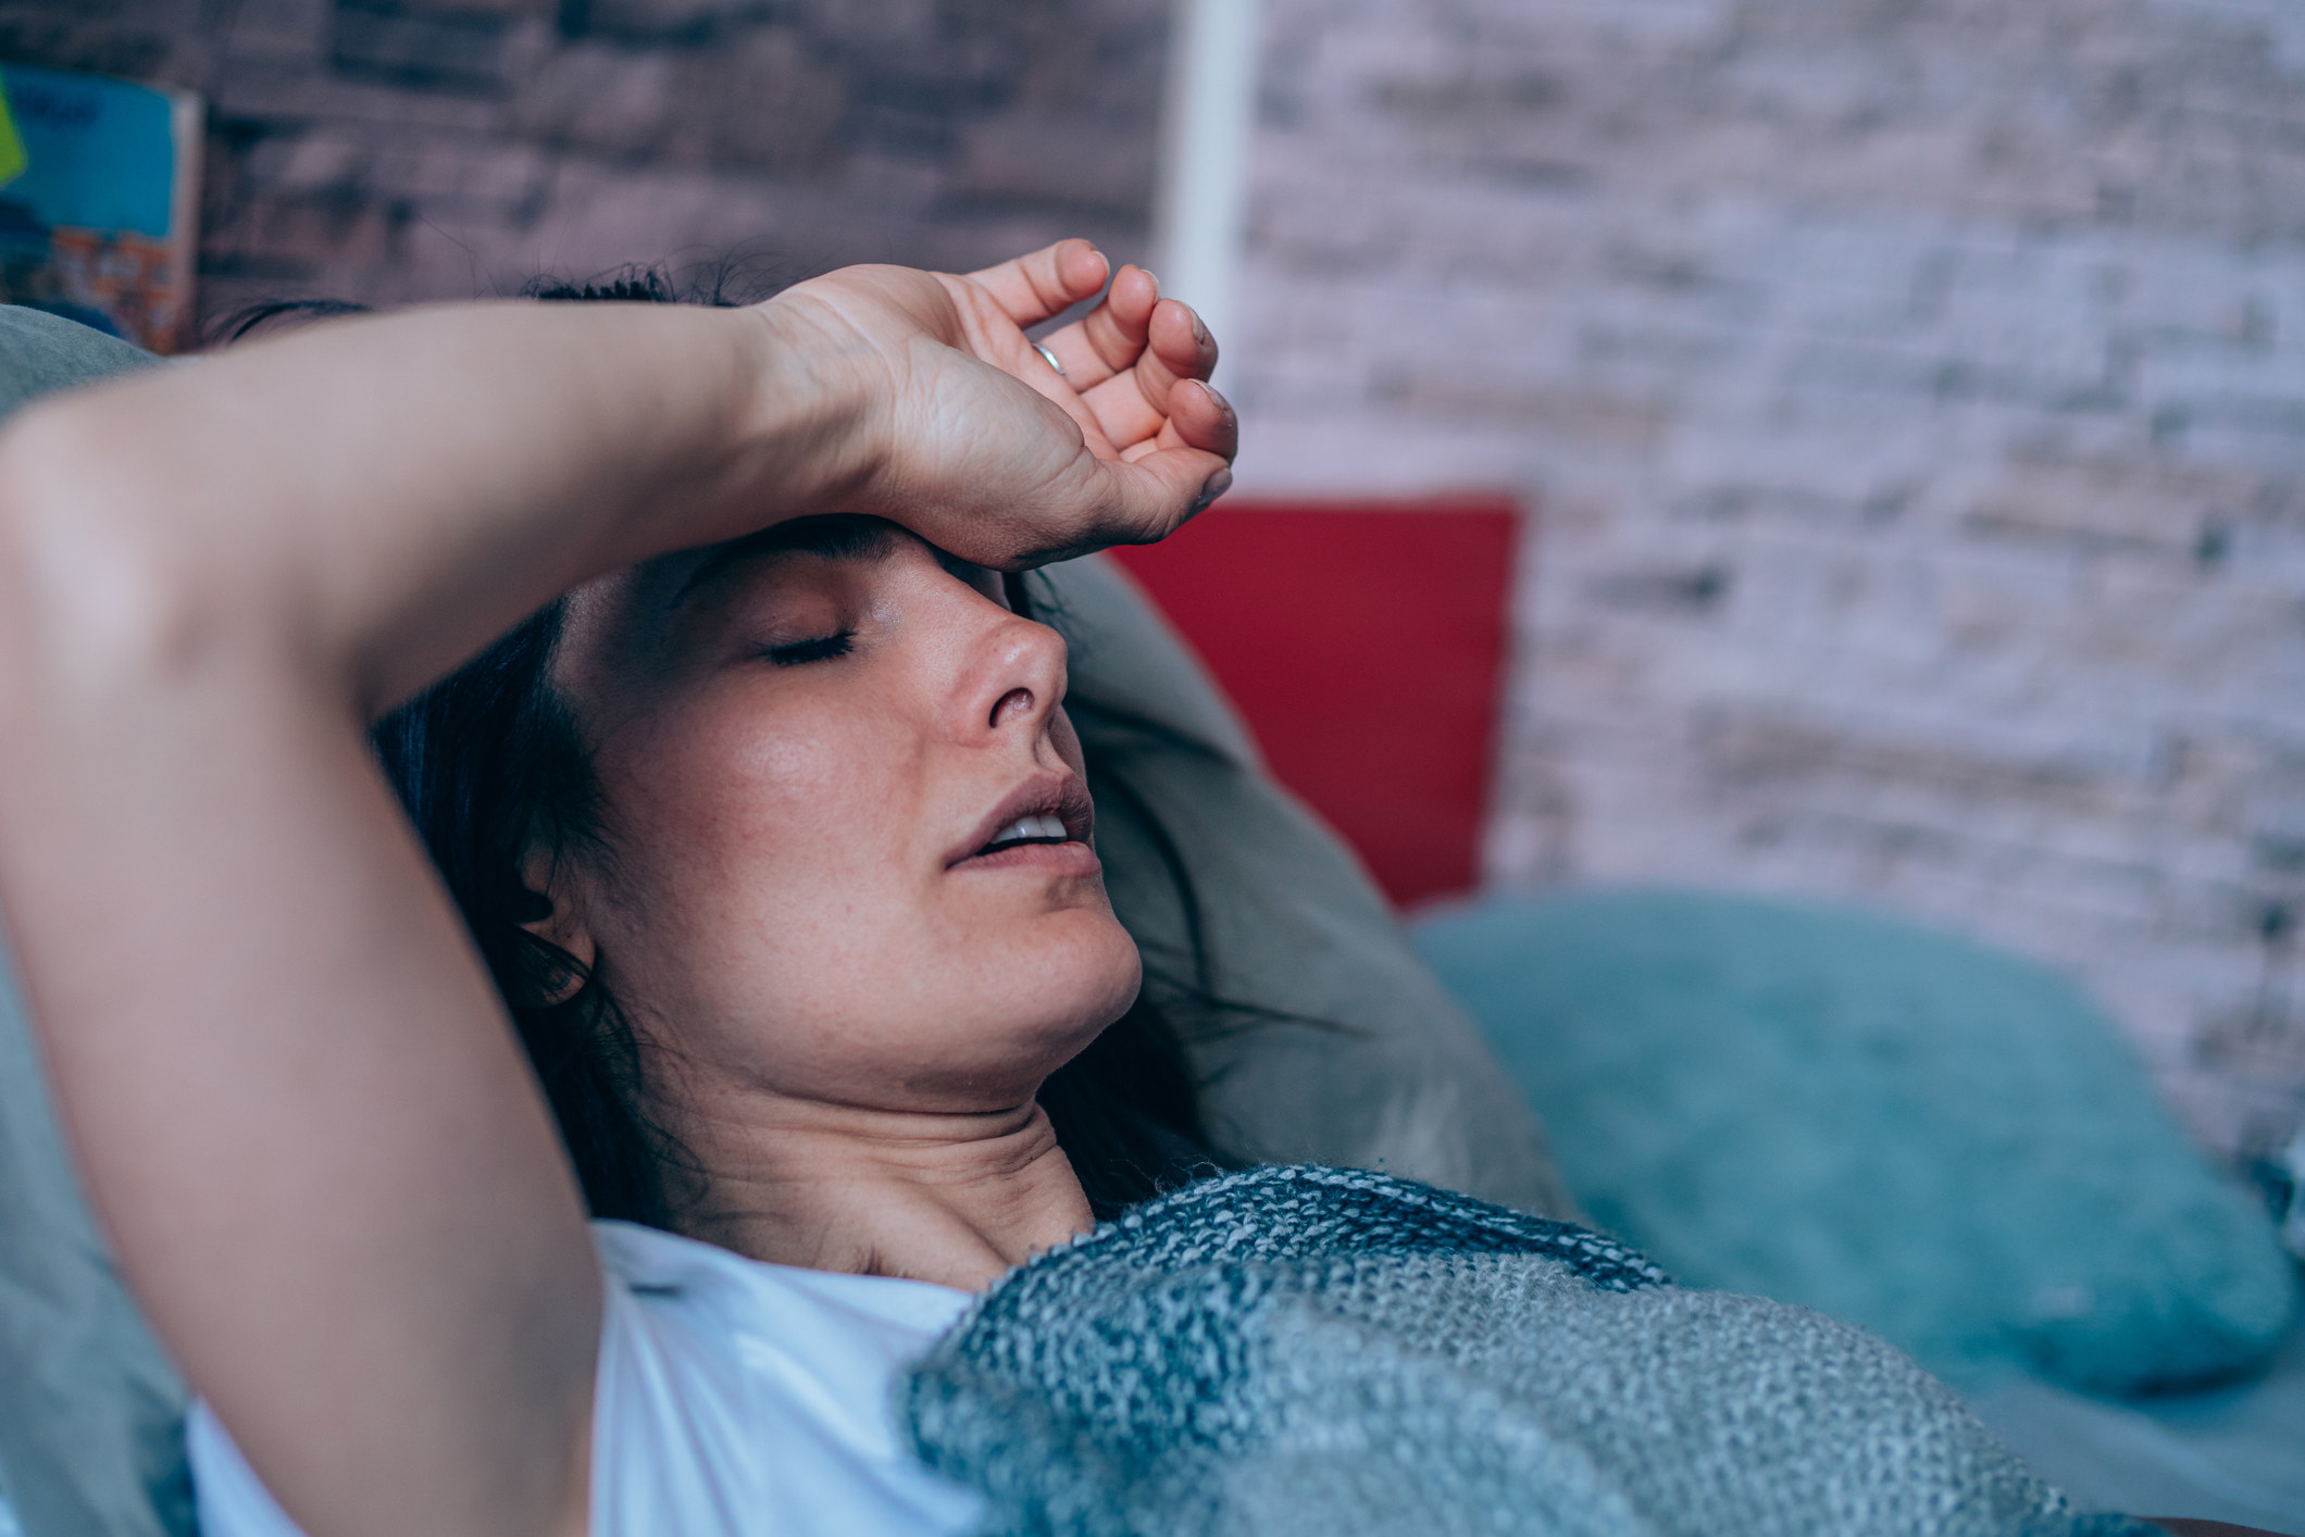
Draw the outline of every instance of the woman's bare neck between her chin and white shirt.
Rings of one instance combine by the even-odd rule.
[[[1093,1226],[1056,1129],[1003,1111],[876,1111],[735,1095],[689,1104],[701,1196],[680,1228],[756,1260],[982,1290]]]

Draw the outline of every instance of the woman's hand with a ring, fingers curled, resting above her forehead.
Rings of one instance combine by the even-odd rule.
[[[761,311],[809,357],[855,369],[869,408],[848,512],[871,512],[1000,569],[1150,544],[1231,484],[1233,408],[1203,380],[1199,316],[1123,267],[1104,304],[1049,336],[1023,327],[1104,286],[1063,240],[968,277],[844,267]]]

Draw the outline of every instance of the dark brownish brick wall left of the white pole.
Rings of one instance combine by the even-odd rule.
[[[735,258],[1143,256],[1164,0],[0,0],[207,94],[201,309]]]

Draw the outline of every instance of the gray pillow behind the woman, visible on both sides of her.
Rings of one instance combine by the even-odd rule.
[[[0,306],[0,415],[157,359]],[[1046,574],[1099,783],[1099,841],[1148,970],[1176,975],[1199,894],[1212,991],[1318,1023],[1196,1044],[1210,1125],[1254,1159],[1383,1168],[1540,1214],[1574,1207],[1480,1032],[1424,972],[1376,887],[1261,770],[1199,664],[1104,560]],[[1148,730],[1150,726],[1150,730]],[[1125,786],[1118,783],[1125,765]],[[1127,790],[1134,790],[1132,802]],[[184,1387],[81,1201],[25,1021],[0,975],[0,1489],[25,1537],[191,1532]]]

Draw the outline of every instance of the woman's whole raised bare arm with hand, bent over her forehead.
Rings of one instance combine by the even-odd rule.
[[[599,1327],[366,721],[553,592],[802,512],[996,565],[1166,532],[1231,452],[1189,313],[1125,272],[1053,341],[1081,389],[1017,332],[1102,277],[1067,242],[357,320],[0,438],[0,910],[131,1284],[316,1537],[581,1530]]]

